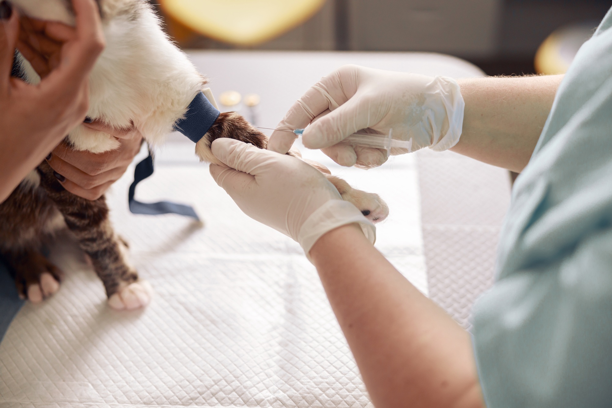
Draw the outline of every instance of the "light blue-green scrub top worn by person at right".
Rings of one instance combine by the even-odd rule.
[[[611,26],[612,9],[559,87],[474,306],[488,408],[612,407]]]

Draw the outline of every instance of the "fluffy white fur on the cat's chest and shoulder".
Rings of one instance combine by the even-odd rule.
[[[21,12],[42,20],[74,25],[69,0],[12,0]],[[133,11],[138,18],[133,17]],[[172,131],[204,78],[166,37],[153,10],[144,3],[102,2],[106,48],[90,75],[88,116],[113,127],[133,124],[145,140],[158,145]],[[26,70],[28,80],[37,75]],[[78,150],[102,153],[116,149],[110,135],[78,126],[69,134]]]

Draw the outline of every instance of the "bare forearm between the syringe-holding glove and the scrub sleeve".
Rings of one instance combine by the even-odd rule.
[[[521,172],[528,163],[563,75],[459,80],[463,132],[451,150]]]

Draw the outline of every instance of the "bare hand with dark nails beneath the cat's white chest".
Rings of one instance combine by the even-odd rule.
[[[95,154],[74,150],[62,142],[47,156],[47,162],[66,190],[88,200],[97,200],[125,173],[140,151],[143,135],[133,126],[115,129],[100,121],[84,123],[84,126],[115,137],[119,140],[119,148]]]

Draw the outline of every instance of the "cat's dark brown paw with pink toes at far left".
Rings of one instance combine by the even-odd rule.
[[[3,249],[2,257],[15,274],[15,285],[20,297],[40,303],[59,290],[62,271],[34,247]]]

